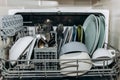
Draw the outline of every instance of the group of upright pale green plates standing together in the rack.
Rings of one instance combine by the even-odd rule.
[[[105,41],[105,19],[103,16],[89,15],[83,24],[85,31],[85,45],[90,55],[97,49],[102,48]]]

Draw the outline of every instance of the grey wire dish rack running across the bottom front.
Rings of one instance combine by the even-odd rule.
[[[113,63],[109,66],[103,66],[102,67],[96,67],[94,65],[92,65],[92,68],[90,70],[88,70],[85,74],[83,75],[78,75],[79,71],[78,70],[78,66],[76,67],[76,70],[74,71],[65,71],[65,72],[74,72],[76,73],[76,76],[74,77],[90,77],[90,76],[100,76],[100,77],[111,77],[113,80],[114,78],[117,77],[117,75],[119,74],[119,64],[118,64],[118,57],[114,57],[112,59],[110,58],[102,58],[102,59],[97,59],[97,60],[93,60],[94,61],[103,61],[103,63],[105,63],[104,61],[107,60],[113,60]],[[64,60],[65,61],[65,60]],[[70,61],[76,61],[76,65],[78,65],[77,63],[79,63],[81,60],[70,60]],[[63,74],[61,74],[61,69],[60,69],[60,65],[59,59],[46,59],[46,60],[40,60],[40,59],[33,59],[30,60],[30,64],[27,64],[27,60],[17,60],[16,66],[13,67],[9,64],[9,60],[3,60],[1,59],[0,62],[0,70],[1,70],[1,76],[3,76],[4,78],[55,78],[55,77],[71,77],[71,76],[65,76]],[[36,66],[36,63],[44,63],[44,70],[40,67]],[[54,69],[54,66],[47,66],[46,63],[53,63],[56,67],[57,65],[57,69]],[[91,63],[92,64],[92,63]],[[37,65],[41,65],[41,64],[37,64]],[[53,64],[52,64],[53,65]],[[36,68],[37,67],[37,68]],[[51,68],[53,67],[53,68]],[[53,69],[53,70],[48,70],[48,69]],[[85,70],[83,70],[84,72]]]

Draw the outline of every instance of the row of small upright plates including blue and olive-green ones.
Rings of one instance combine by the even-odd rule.
[[[84,30],[81,25],[73,27],[67,27],[64,31],[64,42],[63,45],[69,42],[78,41],[84,42]]]

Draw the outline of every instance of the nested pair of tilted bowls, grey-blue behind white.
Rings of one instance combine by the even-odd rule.
[[[59,58],[61,74],[66,76],[83,75],[92,67],[88,50],[81,42],[69,42],[63,45]]]

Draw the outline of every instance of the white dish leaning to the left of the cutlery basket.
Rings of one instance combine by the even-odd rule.
[[[9,60],[17,60],[30,45],[33,39],[34,38],[31,36],[18,39],[9,51]],[[15,63],[16,61],[11,61],[12,65]]]

